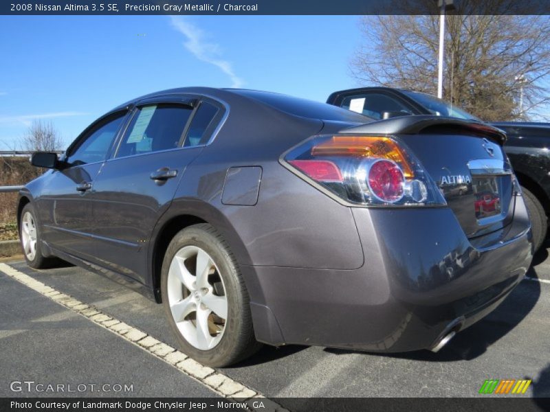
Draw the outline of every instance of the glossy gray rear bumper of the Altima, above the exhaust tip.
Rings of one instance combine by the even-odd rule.
[[[527,272],[531,231],[518,199],[511,225],[472,241],[450,209],[353,209],[365,262],[357,270],[243,266],[256,338],[374,352],[432,347],[494,310]]]

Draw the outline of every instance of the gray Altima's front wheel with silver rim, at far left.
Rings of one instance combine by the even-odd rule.
[[[36,225],[36,212],[32,203],[28,203],[21,211],[19,219],[19,239],[27,264],[35,269],[47,268],[52,264],[51,258],[42,254],[41,234]]]

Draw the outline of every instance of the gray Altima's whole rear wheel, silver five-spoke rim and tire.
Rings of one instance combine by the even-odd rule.
[[[170,242],[161,275],[162,301],[181,350],[223,367],[241,361],[254,339],[248,293],[228,245],[210,225],[193,225]]]

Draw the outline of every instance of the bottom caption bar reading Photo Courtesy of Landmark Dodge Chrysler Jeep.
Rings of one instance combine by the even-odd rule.
[[[0,411],[10,412],[291,412],[362,411],[548,411],[550,398],[480,396],[479,398],[1,398]],[[280,409],[279,409],[280,410]]]

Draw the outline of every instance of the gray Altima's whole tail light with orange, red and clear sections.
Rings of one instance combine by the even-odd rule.
[[[445,205],[419,161],[395,137],[314,136],[281,161],[323,191],[355,205]]]

